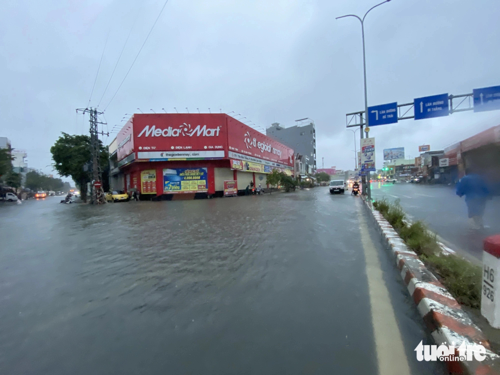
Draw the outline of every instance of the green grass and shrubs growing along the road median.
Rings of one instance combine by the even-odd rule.
[[[406,245],[440,276],[440,280],[459,303],[478,308],[481,304],[481,268],[455,255],[441,254],[436,235],[422,221],[412,224],[396,200],[375,200],[373,207],[396,229]]]

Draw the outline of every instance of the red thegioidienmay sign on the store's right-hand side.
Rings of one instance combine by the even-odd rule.
[[[230,151],[293,167],[293,149],[227,117],[227,145]]]

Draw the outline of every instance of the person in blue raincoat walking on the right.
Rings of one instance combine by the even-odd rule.
[[[465,175],[456,184],[456,195],[465,195],[470,226],[474,229],[482,228],[482,216],[489,198],[489,189],[484,179],[479,174],[465,170]]]

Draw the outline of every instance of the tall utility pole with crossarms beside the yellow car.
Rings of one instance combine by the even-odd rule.
[[[90,203],[92,204],[101,204],[106,203],[106,199],[104,197],[104,190],[102,189],[102,171],[100,169],[100,147],[99,147],[99,134],[108,135],[109,133],[105,133],[103,131],[99,131],[97,128],[97,124],[106,125],[106,122],[100,122],[97,120],[97,114],[102,114],[103,112],[98,112],[97,108],[78,108],[76,109],[76,113],[78,111],[82,113],[88,113],[90,119],[90,154],[91,154],[91,163],[92,163],[92,181],[90,183],[91,189],[91,198]]]

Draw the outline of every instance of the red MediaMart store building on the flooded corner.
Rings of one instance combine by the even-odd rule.
[[[293,175],[293,149],[224,113],[136,113],[115,142],[115,188],[142,195],[222,196],[224,181],[241,191],[273,169]]]

